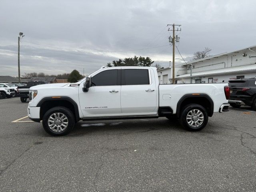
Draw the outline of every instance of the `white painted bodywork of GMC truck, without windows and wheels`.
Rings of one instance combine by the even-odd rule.
[[[159,85],[158,74],[154,67],[102,68],[92,73],[90,77],[110,69],[147,69],[150,84],[92,86],[88,92],[83,92],[85,78],[76,83],[78,86],[70,86],[70,83],[42,84],[30,88],[30,91],[38,90],[38,94],[29,102],[28,108],[38,107],[38,103],[44,98],[68,97],[77,104],[79,118],[92,118],[158,116],[159,107],[166,106],[169,106],[175,114],[178,101],[186,94],[207,94],[214,102],[214,112],[218,112],[220,106],[228,102],[224,94],[224,86],[227,84]],[[116,92],[110,92],[112,90]],[[30,116],[39,116],[39,114],[31,114],[31,111],[40,112],[40,110],[30,110]]]

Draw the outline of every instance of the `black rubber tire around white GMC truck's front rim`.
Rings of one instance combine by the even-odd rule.
[[[52,130],[49,125],[48,125],[48,119],[50,118],[50,116],[52,116],[54,113],[62,113],[64,114],[67,118],[68,118],[68,125],[67,127],[62,130],[62,131],[59,131],[58,130]],[[55,120],[54,120],[55,122]],[[68,134],[70,131],[72,131],[72,129],[74,128],[74,125],[76,123],[75,121],[75,117],[74,117],[74,114],[72,113],[71,110],[69,110],[68,108],[66,107],[54,107],[54,108],[51,108],[49,109],[43,116],[43,120],[42,120],[42,123],[43,123],[43,127],[44,127],[44,130],[52,135],[52,136],[63,136],[63,135],[66,135]],[[55,123],[54,123],[55,124]],[[57,129],[57,128],[56,128]]]

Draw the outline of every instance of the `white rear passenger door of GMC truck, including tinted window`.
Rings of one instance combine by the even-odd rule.
[[[157,87],[151,69],[122,69],[122,114],[142,115],[154,112],[157,107]]]

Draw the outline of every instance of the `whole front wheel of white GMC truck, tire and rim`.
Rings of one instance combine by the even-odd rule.
[[[44,130],[52,136],[68,134],[75,125],[75,117],[71,110],[66,107],[54,107],[49,109],[43,116]]]

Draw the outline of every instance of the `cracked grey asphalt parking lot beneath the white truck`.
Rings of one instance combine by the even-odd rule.
[[[256,112],[187,132],[166,118],[78,122],[52,137],[0,100],[0,191],[256,191]]]

